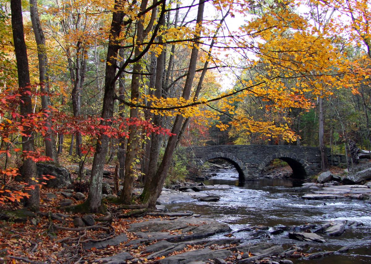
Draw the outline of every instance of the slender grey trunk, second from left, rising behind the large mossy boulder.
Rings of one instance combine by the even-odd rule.
[[[49,110],[50,97],[49,93],[49,74],[48,74],[48,62],[46,56],[45,37],[41,27],[39,13],[37,11],[37,1],[30,0],[30,16],[32,21],[33,33],[35,34],[35,40],[37,44],[37,57],[39,58],[39,79],[40,79],[40,91],[43,94],[41,96],[41,105],[44,110]],[[49,116],[51,113],[48,113]],[[51,127],[50,117],[47,119],[46,127],[49,129],[49,134],[44,137],[45,141],[45,153],[46,156],[53,159],[54,162],[58,163],[58,156],[55,144],[55,134],[50,131]]]

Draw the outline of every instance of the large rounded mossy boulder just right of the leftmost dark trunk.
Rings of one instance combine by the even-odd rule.
[[[48,188],[63,188],[69,186],[72,182],[71,174],[65,167],[62,167],[53,162],[38,162],[37,174],[40,177],[40,183],[45,182],[44,187]],[[21,170],[22,171],[22,170]],[[45,180],[42,179],[42,175],[51,175],[55,178]]]

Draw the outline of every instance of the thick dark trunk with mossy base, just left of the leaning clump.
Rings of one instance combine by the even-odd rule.
[[[107,50],[107,64],[105,71],[105,84],[104,84],[104,98],[103,98],[103,110],[102,118],[110,119],[114,112],[114,94],[115,94],[115,74],[116,74],[116,63],[117,55],[119,50],[119,36],[121,33],[121,23],[124,18],[120,9],[122,0],[115,0],[114,13],[112,15],[112,23],[110,30],[110,38]],[[110,125],[107,121],[101,121],[102,125]],[[92,172],[90,178],[90,188],[88,203],[89,209],[92,212],[98,212],[101,210],[102,200],[102,178],[103,178],[103,167],[105,162],[105,156],[108,150],[109,138],[106,135],[102,135],[98,138]]]

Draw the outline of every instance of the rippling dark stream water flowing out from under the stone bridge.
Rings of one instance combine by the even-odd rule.
[[[302,225],[322,223],[328,220],[356,220],[364,226],[351,227],[341,236],[329,237],[320,234],[326,243],[310,243],[311,247],[336,251],[340,247],[350,248],[348,253],[334,254],[314,260],[291,259],[296,264],[354,264],[371,263],[371,204],[359,200],[304,200],[301,196],[311,192],[303,182],[286,179],[263,179],[239,183],[238,173],[233,169],[218,170],[216,176],[205,180],[205,185],[230,185],[227,190],[208,190],[210,195],[220,196],[218,202],[174,203],[167,205],[171,211],[191,210],[197,214],[227,223],[233,230],[246,226]],[[244,242],[256,241],[251,232],[234,234]],[[220,237],[223,234],[216,235]],[[272,236],[272,243],[288,248],[298,241],[288,238],[288,232]],[[315,251],[313,251],[315,252]]]

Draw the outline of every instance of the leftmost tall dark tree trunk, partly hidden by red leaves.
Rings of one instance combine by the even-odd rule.
[[[32,101],[30,94],[30,72],[28,67],[27,59],[27,48],[24,41],[23,33],[23,17],[22,17],[22,4],[20,0],[10,1],[10,9],[12,12],[12,30],[13,30],[13,41],[14,51],[16,53],[17,60],[17,71],[18,71],[18,85],[22,92],[23,103],[20,104],[21,115],[27,116],[32,114]],[[32,136],[32,130],[29,127],[24,127],[24,133],[30,135],[30,137],[22,136],[22,149],[23,151],[34,151],[34,142]],[[33,179],[37,179],[36,163],[31,158],[23,158],[23,175],[25,181],[29,185],[36,185],[37,182]],[[39,186],[35,186],[35,189],[27,190],[30,194],[30,198],[26,200],[26,206],[33,210],[38,211],[40,208],[40,190]]]

